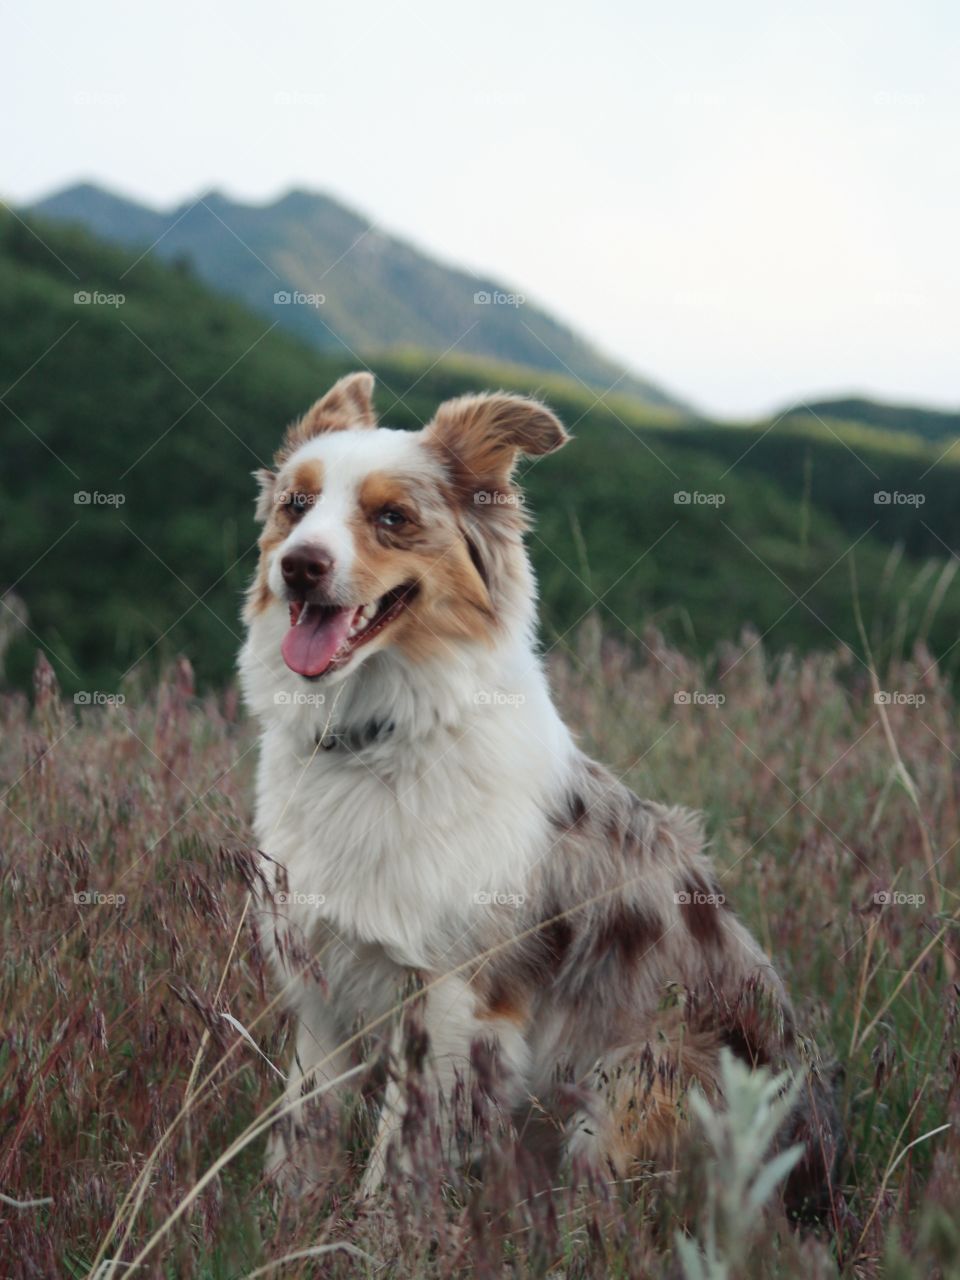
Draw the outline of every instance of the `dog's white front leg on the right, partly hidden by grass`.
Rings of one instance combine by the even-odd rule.
[[[406,1024],[394,1030],[390,1056],[394,1071],[387,1085],[380,1125],[370,1152],[361,1190],[370,1196],[383,1187],[387,1174],[387,1151],[399,1135],[408,1110],[411,1080],[404,1061],[407,1029],[422,1019],[426,1032],[426,1057],[422,1064],[422,1092],[428,1114],[426,1124],[436,1126],[440,1137],[443,1158],[456,1164],[457,1151],[457,1108],[456,1091],[458,1082],[467,1085],[466,1098],[470,1100],[471,1053],[480,1042],[497,1064],[497,1088],[492,1105],[499,1106],[504,1114],[516,1108],[526,1096],[529,1075],[529,1050],[522,1027],[502,1019],[484,1015],[479,1006],[476,992],[468,983],[456,977],[428,979],[428,989],[422,1002],[407,1015]],[[490,1080],[485,1082],[488,1085]],[[411,1152],[399,1153],[401,1169],[411,1171]]]

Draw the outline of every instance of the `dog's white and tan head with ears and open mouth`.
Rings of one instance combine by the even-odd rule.
[[[353,669],[390,645],[415,660],[495,640],[529,593],[521,454],[567,434],[520,396],[465,396],[421,431],[376,426],[370,374],[342,378],[257,472],[260,566],[250,621],[289,613],[282,653],[307,678]]]

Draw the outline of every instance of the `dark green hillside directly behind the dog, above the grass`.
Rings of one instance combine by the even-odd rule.
[[[8,654],[17,684],[41,643],[68,689],[116,689],[131,666],[175,652],[201,678],[225,678],[255,563],[250,471],[353,364],[270,329],[189,273],[150,257],[129,270],[134,257],[76,229],[0,221],[0,586],[29,620]],[[74,302],[92,288],[125,297]],[[447,396],[503,385],[547,396],[573,431],[568,448],[526,466],[547,644],[591,609],[614,632],[644,636],[654,623],[700,652],[745,623],[774,650],[854,644],[847,553],[858,539],[881,649],[924,634],[947,653],[960,634],[960,590],[936,590],[945,548],[927,532],[916,556],[900,556],[918,511],[876,507],[861,462],[906,490],[938,451],[842,442],[817,424],[763,438],[760,428],[682,426],[627,398],[595,404],[543,372],[433,361],[374,362],[389,425],[416,426]],[[933,467],[920,512],[952,547],[956,475],[950,460]]]

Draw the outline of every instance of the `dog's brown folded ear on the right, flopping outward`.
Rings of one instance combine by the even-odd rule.
[[[447,401],[424,436],[462,494],[508,486],[521,453],[553,453],[568,439],[545,404],[506,392]]]

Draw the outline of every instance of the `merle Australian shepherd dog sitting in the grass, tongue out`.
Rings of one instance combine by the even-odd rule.
[[[256,472],[239,669],[261,726],[264,934],[297,1018],[284,1111],[311,1089],[340,1097],[355,1033],[396,1028],[413,982],[438,1098],[479,1042],[508,1112],[556,1101],[571,1160],[669,1167],[686,1092],[717,1097],[724,1047],[799,1065],[790,1000],[719,891],[700,819],[635,796],[552,701],[512,475],[564,428],[498,393],[390,430],[372,393],[370,374],[342,378]],[[804,1143],[791,1178],[808,1206],[837,1149],[810,1080],[785,1134]],[[394,1075],[366,1192],[403,1115]],[[275,1125],[273,1174],[302,1181],[319,1158]]]

